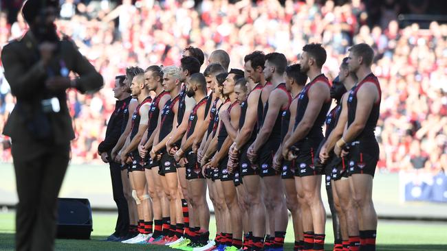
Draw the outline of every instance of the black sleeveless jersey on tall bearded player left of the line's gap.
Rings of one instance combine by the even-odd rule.
[[[329,80],[327,80],[327,77],[324,74],[320,74],[312,80],[309,84],[304,86],[303,90],[301,90],[301,93],[298,95],[298,104],[296,107],[296,117],[295,117],[295,126],[294,130],[296,129],[296,126],[298,123],[301,122],[301,119],[303,119],[307,104],[309,104],[309,89],[314,85],[316,82],[325,82],[327,86],[331,86],[329,84]],[[307,134],[307,137],[323,137],[323,123],[325,123],[327,112],[329,111],[329,108],[331,107],[331,99],[329,101],[326,101],[323,106],[321,107],[320,112],[318,113],[318,117],[316,117],[316,120],[314,122],[314,125],[312,125],[312,128],[310,129],[309,133]]]

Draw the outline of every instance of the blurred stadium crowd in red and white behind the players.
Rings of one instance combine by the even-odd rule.
[[[2,2],[0,50],[27,29],[21,15],[12,14],[21,2]],[[447,170],[447,25],[432,22],[422,29],[397,23],[397,14],[405,11],[436,12],[439,8],[429,4],[435,1],[316,2],[61,0],[58,29],[105,79],[95,95],[68,91],[76,128],[72,163],[102,163],[96,151],[115,104],[113,80],[128,66],[178,64],[182,50],[192,45],[206,56],[224,49],[230,67],[242,69],[243,56],[254,50],[278,51],[296,62],[303,45],[315,42],[327,50],[323,72],[329,79],[336,77],[353,43],[368,43],[377,53],[373,72],[382,85],[378,171]],[[1,131],[13,107],[0,65]],[[1,160],[12,161],[9,150],[2,151]]]

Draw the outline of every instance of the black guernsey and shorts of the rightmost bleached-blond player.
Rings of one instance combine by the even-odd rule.
[[[174,98],[166,101],[166,104],[162,110],[162,120],[160,122],[160,135],[158,141],[161,142],[172,130],[173,130],[173,122],[174,122],[174,106],[179,101],[180,96],[177,95]],[[166,148],[163,148],[162,158],[160,159],[160,175],[164,176],[167,173],[176,172],[175,159],[173,156],[169,155],[166,152]]]

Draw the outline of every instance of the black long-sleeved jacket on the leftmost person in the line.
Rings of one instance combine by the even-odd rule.
[[[129,96],[126,99],[116,101],[115,110],[113,110],[109,123],[107,123],[105,139],[98,145],[98,152],[107,152],[110,154],[118,139],[120,139],[124,110],[129,108],[131,99],[132,97]]]

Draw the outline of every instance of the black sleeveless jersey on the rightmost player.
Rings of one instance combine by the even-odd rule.
[[[351,91],[349,91],[349,96],[347,100],[347,106],[348,106],[348,127],[351,125],[351,123],[356,119],[356,108],[357,108],[357,92],[362,87],[362,85],[365,82],[373,82],[375,86],[377,86],[379,91],[379,99],[375,104],[373,105],[373,108],[371,109],[371,113],[369,114],[368,120],[366,125],[364,125],[364,128],[362,132],[356,137],[356,140],[358,139],[375,139],[374,131],[375,126],[377,125],[377,121],[379,119],[380,115],[380,99],[382,98],[382,90],[380,89],[379,80],[373,73],[370,73],[364,79],[359,82],[356,86],[354,86]]]

